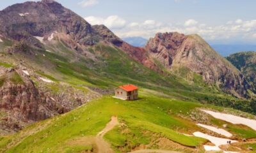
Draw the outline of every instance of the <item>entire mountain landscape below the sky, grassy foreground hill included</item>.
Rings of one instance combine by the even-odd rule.
[[[256,113],[252,52],[226,59],[198,34],[175,32],[157,33],[145,46],[134,47],[105,25],[90,25],[52,0],[5,8],[0,27],[1,152],[93,152],[93,142],[106,144],[100,134],[88,136],[114,115],[120,119],[112,117],[113,122],[122,126],[112,131],[116,137],[106,139],[118,152],[151,143],[154,148],[154,137],[186,152],[200,152],[205,139],[180,133],[198,129],[195,122],[226,122],[211,117],[199,121],[204,114],[196,108]],[[140,103],[111,97],[122,84],[141,88]],[[244,112],[239,113],[252,118]],[[256,137],[250,128],[227,124],[236,140]],[[69,145],[74,145],[71,150]]]

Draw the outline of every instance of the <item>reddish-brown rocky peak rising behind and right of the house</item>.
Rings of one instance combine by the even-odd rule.
[[[167,69],[179,73],[186,68],[226,92],[236,96],[247,94],[248,83],[241,72],[196,34],[158,33],[145,48]]]

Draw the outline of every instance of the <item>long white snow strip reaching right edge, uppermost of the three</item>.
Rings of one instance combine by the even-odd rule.
[[[202,110],[202,111],[205,113],[209,113],[210,115],[212,115],[212,117],[215,117],[216,119],[225,120],[232,124],[243,124],[256,131],[256,120],[246,119],[244,117],[238,117],[236,115],[230,115],[227,113],[212,112],[211,110]]]

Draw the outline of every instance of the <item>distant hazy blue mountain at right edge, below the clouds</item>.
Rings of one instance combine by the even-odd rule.
[[[242,51],[256,51],[256,45],[211,45],[211,47],[224,57]]]

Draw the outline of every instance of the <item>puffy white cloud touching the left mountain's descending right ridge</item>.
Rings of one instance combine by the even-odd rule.
[[[104,24],[109,29],[120,29],[126,25],[126,21],[123,18],[118,17],[118,15],[111,15],[107,18],[90,16],[85,17],[84,19],[92,25]]]

